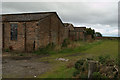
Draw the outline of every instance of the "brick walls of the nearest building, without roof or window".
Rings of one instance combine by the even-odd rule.
[[[11,40],[11,23],[17,23],[17,40]],[[61,44],[65,39],[64,25],[57,14],[38,21],[3,22],[4,49],[33,51],[49,43]]]

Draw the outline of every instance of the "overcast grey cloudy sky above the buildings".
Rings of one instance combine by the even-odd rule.
[[[118,36],[118,2],[81,1],[81,2],[34,2],[22,1],[2,3],[2,14],[29,12],[57,12],[64,23],[72,23],[75,27],[95,29],[103,36]]]

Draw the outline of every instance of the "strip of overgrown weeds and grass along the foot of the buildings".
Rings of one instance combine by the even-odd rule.
[[[60,50],[55,50],[56,45],[48,44],[46,47],[41,47],[37,51],[35,51],[35,54],[70,54],[70,53],[77,53],[81,51],[85,51],[89,48],[92,48],[95,45],[101,44],[102,41],[97,41],[93,43],[83,42],[83,41],[74,41],[74,42],[66,42],[68,40],[65,40],[63,44],[61,45]],[[71,46],[71,47],[70,47]]]

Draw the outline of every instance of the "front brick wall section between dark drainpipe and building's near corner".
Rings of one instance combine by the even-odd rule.
[[[19,26],[20,27],[20,26]],[[26,27],[26,30],[24,31],[26,33],[26,41],[25,41],[25,50],[31,51],[35,50],[35,38],[36,38],[36,21],[26,22],[24,28]]]

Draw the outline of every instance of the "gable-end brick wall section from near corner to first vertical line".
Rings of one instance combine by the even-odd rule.
[[[38,21],[36,29],[36,48],[50,43],[50,17]]]

